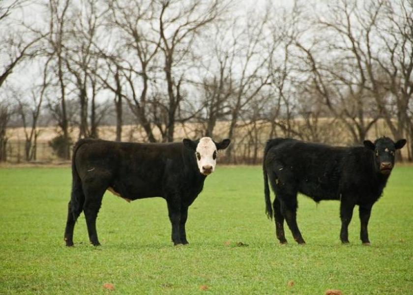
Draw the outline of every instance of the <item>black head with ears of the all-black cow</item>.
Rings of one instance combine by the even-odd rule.
[[[383,175],[389,175],[394,167],[394,154],[396,149],[403,148],[406,144],[405,139],[398,140],[396,143],[388,137],[376,139],[374,143],[369,140],[363,142],[364,147],[374,151],[375,167]]]

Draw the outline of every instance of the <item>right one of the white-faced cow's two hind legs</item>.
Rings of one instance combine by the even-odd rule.
[[[93,246],[100,245],[96,232],[96,218],[106,189],[107,186],[103,184],[84,187],[85,204],[83,205],[83,212],[85,213],[86,225],[88,227],[89,241]]]

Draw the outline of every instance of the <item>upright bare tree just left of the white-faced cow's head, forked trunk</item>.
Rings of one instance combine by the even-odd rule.
[[[163,52],[163,71],[167,85],[168,102],[163,105],[167,114],[166,141],[174,140],[177,111],[184,95],[182,86],[185,81],[185,69],[178,71],[191,51],[192,44],[201,30],[213,23],[226,8],[226,3],[218,1],[187,1],[185,5],[177,0],[161,0],[159,5],[159,35]]]

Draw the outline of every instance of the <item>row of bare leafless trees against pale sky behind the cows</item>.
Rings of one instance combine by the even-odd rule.
[[[126,121],[147,142],[197,123],[233,140],[231,159],[237,128],[255,147],[275,136],[337,142],[342,130],[329,126],[359,144],[379,120],[409,140],[411,160],[413,1],[286,5],[1,1],[0,160],[12,125],[25,128],[28,161],[41,125],[58,127],[51,144],[69,158],[71,128],[97,138],[113,122],[120,140]]]

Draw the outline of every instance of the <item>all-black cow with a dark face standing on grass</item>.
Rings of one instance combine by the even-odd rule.
[[[287,243],[284,219],[295,241],[305,244],[296,222],[297,193],[317,203],[340,200],[342,243],[349,243],[348,226],[358,205],[360,239],[363,244],[370,244],[367,225],[371,208],[383,193],[394,167],[396,149],[403,148],[406,140],[394,143],[382,137],[363,144],[364,147],[330,147],[290,138],[267,141],[263,160],[266,214],[270,219],[274,217],[281,244]],[[275,194],[272,207],[268,179]]]

